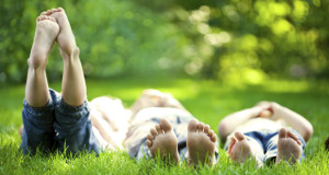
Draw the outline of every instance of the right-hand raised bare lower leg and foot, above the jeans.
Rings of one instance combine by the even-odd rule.
[[[61,95],[71,106],[80,106],[87,100],[87,88],[82,66],[79,59],[79,48],[64,9],[52,9],[44,14],[57,20],[60,32],[57,37],[60,55],[64,60]]]

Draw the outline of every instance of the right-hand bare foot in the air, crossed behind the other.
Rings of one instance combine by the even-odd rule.
[[[59,45],[60,54],[64,58],[68,58],[77,49],[76,38],[72,33],[68,18],[64,9],[52,9],[42,14],[50,15],[57,20],[60,32],[57,36],[57,43]]]

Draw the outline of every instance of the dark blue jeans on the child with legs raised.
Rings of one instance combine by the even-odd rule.
[[[24,154],[48,153],[59,150],[99,153],[99,143],[92,132],[88,103],[75,107],[66,104],[60,94],[49,90],[50,100],[43,107],[32,107],[24,101],[22,112],[24,130],[21,150]]]

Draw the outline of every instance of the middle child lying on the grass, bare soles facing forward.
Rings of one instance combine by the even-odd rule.
[[[216,163],[216,135],[171,95],[146,90],[131,110],[131,127],[123,144],[132,158],[160,156],[172,163],[182,159],[191,166]]]

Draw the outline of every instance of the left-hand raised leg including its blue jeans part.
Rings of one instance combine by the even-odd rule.
[[[53,91],[49,95],[45,69],[58,32],[59,26],[54,18],[46,15],[37,18],[34,42],[27,60],[29,70],[22,112],[24,127],[20,129],[21,150],[24,154],[29,152],[35,154],[37,148],[42,152],[48,152],[55,145],[52,98],[56,95]]]

